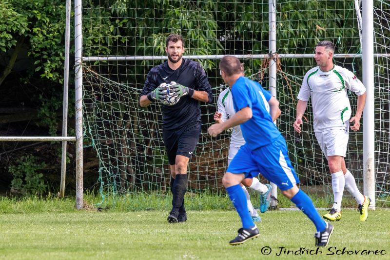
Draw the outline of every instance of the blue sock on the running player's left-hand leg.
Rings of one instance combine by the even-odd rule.
[[[247,199],[240,184],[230,186],[226,188],[226,191],[228,192],[229,198],[232,200],[233,205],[241,218],[242,227],[254,227],[254,222],[251,218],[251,215],[249,214]]]

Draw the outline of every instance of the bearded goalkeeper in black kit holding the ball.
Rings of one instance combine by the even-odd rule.
[[[176,223],[187,220],[184,195],[188,187],[188,162],[201,130],[199,101],[210,103],[213,95],[209,80],[200,64],[181,58],[184,39],[180,35],[168,36],[165,52],[168,60],[149,71],[139,104],[141,107],[147,107],[155,101],[165,103],[167,87],[164,83],[174,81],[174,85],[170,86],[170,93],[174,93],[176,103],[162,106],[162,137],[171,168],[173,195],[168,222]]]

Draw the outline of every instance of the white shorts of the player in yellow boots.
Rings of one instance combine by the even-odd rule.
[[[348,134],[349,131],[345,129],[331,129],[323,132],[315,132],[315,137],[322,152],[328,159],[328,156],[346,156]]]

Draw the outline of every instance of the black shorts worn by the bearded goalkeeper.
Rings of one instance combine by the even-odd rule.
[[[176,155],[182,155],[191,159],[196,144],[199,141],[201,123],[186,125],[176,130],[162,131],[165,149],[169,164],[176,164]]]

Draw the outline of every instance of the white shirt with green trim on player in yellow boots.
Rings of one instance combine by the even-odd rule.
[[[351,118],[348,89],[357,96],[366,92],[363,83],[348,69],[334,65],[323,72],[317,66],[306,73],[298,99],[308,101],[312,97],[314,132],[348,130]]]

